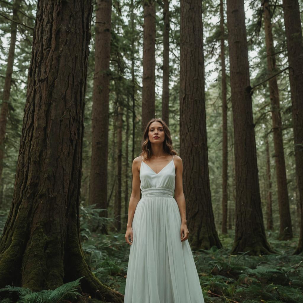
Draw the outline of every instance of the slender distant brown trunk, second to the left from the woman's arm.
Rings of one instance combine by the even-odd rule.
[[[117,231],[121,231],[121,200],[122,200],[122,124],[123,112],[119,92],[117,92],[118,101],[118,128],[117,128],[117,176],[118,176],[118,191],[117,199],[115,200],[115,226]]]

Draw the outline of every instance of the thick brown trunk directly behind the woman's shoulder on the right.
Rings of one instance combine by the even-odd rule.
[[[180,30],[180,154],[189,241],[195,250],[221,248],[208,175],[201,1],[181,0]]]

